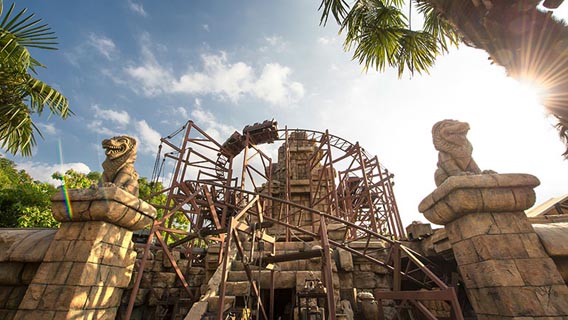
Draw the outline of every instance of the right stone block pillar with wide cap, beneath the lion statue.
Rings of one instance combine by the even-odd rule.
[[[536,177],[449,177],[419,206],[444,225],[478,319],[568,317],[568,288],[524,210]]]

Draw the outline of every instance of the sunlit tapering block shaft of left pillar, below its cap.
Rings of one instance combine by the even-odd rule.
[[[89,190],[78,194],[78,198],[91,195]],[[132,202],[130,205],[140,203],[138,199],[126,200]],[[30,319],[40,311],[51,312],[49,314],[58,319],[115,317],[122,288],[130,281],[136,258],[130,242],[132,232],[128,229],[134,228],[135,224],[117,226],[106,221],[107,218],[97,220],[89,211],[92,205],[89,202],[79,203],[77,214],[67,216],[72,221],[64,219],[53,240],[47,242],[49,248],[37,271],[30,267],[27,273],[21,273],[31,278],[30,272],[35,271],[16,318]],[[95,205],[107,206],[102,202]],[[116,201],[109,206],[111,211],[113,206],[122,206],[134,212],[131,207]],[[100,210],[99,213],[105,211]],[[59,214],[66,214],[66,211]],[[106,214],[112,220],[112,212]],[[93,218],[94,221],[90,220]],[[120,221],[114,223],[121,224]]]

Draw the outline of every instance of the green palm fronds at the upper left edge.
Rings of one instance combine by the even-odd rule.
[[[67,98],[33,76],[36,68],[44,66],[28,48],[55,50],[53,32],[34,14],[25,15],[27,9],[14,14],[14,7],[3,15],[0,0],[0,142],[8,152],[31,156],[34,133],[41,136],[32,114],[41,115],[47,106],[65,119],[71,111]]]

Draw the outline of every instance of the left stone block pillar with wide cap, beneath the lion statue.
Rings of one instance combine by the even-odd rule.
[[[114,319],[136,260],[132,231],[156,209],[117,187],[69,190],[52,203],[61,227],[15,319]]]

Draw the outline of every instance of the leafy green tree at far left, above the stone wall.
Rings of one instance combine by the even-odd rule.
[[[51,215],[51,195],[56,188],[49,183],[33,181],[15,164],[0,158],[0,227],[56,227]]]

